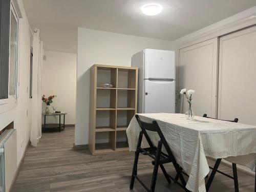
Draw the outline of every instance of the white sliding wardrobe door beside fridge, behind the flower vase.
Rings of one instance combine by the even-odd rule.
[[[216,117],[217,58],[218,38],[180,49],[179,88],[196,91],[192,111],[198,116],[206,113]],[[188,104],[184,98],[182,112],[187,110]]]

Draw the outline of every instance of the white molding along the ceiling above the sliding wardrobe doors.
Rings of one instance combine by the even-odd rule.
[[[182,49],[253,25],[256,25],[256,6],[175,40],[176,48]]]

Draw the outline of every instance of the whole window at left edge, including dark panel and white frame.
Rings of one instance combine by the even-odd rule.
[[[0,0],[0,104],[17,97],[18,17],[11,0]]]

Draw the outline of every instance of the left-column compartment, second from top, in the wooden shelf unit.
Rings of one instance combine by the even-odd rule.
[[[97,89],[96,108],[115,109],[116,89]]]

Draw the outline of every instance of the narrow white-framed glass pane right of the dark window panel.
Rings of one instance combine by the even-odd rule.
[[[17,88],[17,45],[18,45],[18,18],[11,7],[10,18],[10,57],[9,57],[9,95],[16,97]]]

